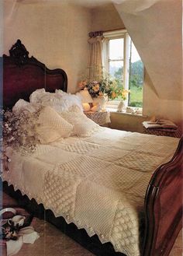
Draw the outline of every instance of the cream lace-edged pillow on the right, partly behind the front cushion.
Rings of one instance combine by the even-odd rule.
[[[87,137],[100,128],[98,124],[86,117],[77,106],[71,107],[68,111],[60,112],[59,114],[74,126],[73,135]]]

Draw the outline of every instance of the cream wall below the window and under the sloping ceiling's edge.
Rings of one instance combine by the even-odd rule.
[[[183,131],[183,102],[181,100],[162,100],[145,72],[143,86],[143,116],[111,113],[111,128],[130,132],[143,132],[142,122],[150,117],[174,121]]]

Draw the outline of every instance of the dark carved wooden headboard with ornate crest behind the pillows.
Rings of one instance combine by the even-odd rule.
[[[50,70],[33,56],[29,58],[26,47],[17,40],[9,50],[9,56],[2,57],[3,107],[12,108],[19,99],[29,101],[35,89],[45,88],[54,93],[55,89],[67,91],[67,74],[63,69]]]

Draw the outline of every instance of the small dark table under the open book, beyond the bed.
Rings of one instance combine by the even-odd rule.
[[[145,128],[143,126],[143,133],[157,136],[169,136],[175,138],[181,138],[181,132],[177,129],[168,128]]]

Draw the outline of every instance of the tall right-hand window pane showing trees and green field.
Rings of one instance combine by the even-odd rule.
[[[133,42],[129,58],[129,106],[143,107],[143,62]]]

